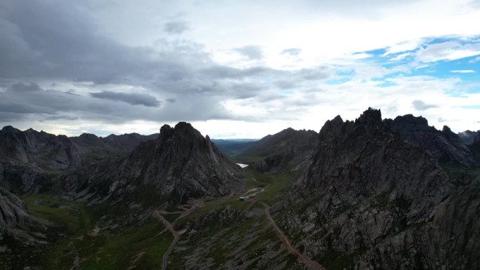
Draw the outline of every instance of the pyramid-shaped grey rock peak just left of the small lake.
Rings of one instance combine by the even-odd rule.
[[[208,136],[180,122],[175,128],[163,126],[157,140],[142,142],[126,158],[82,168],[64,177],[63,184],[76,198],[91,202],[135,200],[146,192],[157,201],[179,203],[229,194],[241,187],[242,177],[239,166]]]

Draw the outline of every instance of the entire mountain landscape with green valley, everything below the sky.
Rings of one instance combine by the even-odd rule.
[[[7,126],[0,161],[4,269],[480,267],[480,135],[411,114],[256,141]]]

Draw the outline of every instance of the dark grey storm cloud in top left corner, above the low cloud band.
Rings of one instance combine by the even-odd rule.
[[[96,34],[95,20],[72,2],[19,0],[0,5],[2,76],[145,83],[159,71],[179,69],[184,63],[178,58],[204,59],[186,42],[165,43],[159,50],[116,43]]]

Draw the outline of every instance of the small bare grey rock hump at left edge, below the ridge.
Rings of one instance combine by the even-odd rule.
[[[0,234],[8,224],[27,224],[29,221],[25,203],[0,187]]]

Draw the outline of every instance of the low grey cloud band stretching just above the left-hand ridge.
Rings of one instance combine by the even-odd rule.
[[[41,89],[25,95],[25,92],[8,88],[0,93],[0,119],[8,122],[29,117],[43,121],[78,118],[124,123],[133,120],[196,121],[232,117],[222,109],[218,99],[196,93],[186,96],[179,100],[181,106],[167,103],[168,106],[163,107],[146,107],[91,95],[70,95],[54,89]],[[178,118],[180,116],[182,118]]]

